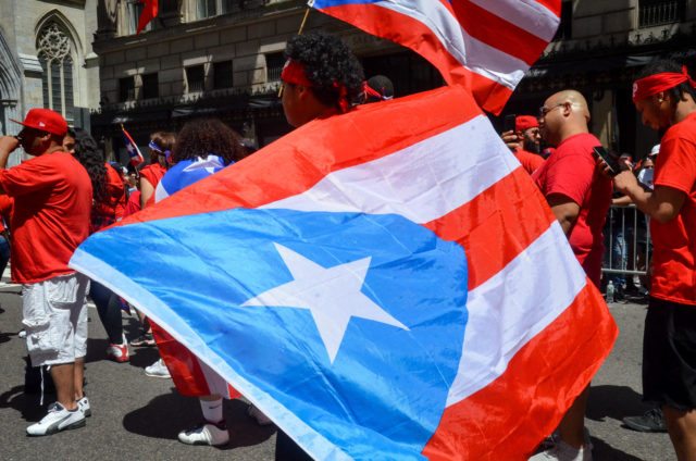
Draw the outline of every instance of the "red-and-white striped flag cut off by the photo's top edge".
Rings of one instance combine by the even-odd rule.
[[[430,61],[499,114],[554,38],[560,0],[310,0],[310,7]]]

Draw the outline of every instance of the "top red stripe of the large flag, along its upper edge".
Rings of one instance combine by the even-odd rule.
[[[422,123],[423,100],[427,101],[427,123]],[[361,105],[347,114],[310,122],[233,167],[163,200],[165,207],[146,208],[115,225],[272,203],[304,192],[334,171],[381,159],[481,114],[471,95],[451,87]],[[386,132],[385,121],[389,121]],[[204,201],[198,197],[199,188],[207,194]]]

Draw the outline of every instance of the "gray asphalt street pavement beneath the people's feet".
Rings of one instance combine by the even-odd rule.
[[[7,279],[7,278],[5,278]],[[24,341],[20,288],[0,284],[0,460],[273,460],[274,426],[260,427],[245,414],[241,400],[225,402],[232,440],[222,449],[189,447],[176,434],[200,419],[197,400],[178,395],[170,379],[146,377],[142,369],[157,359],[152,348],[132,349],[129,363],[104,359],[105,333],[89,310],[85,390],[94,415],[87,426],[49,437],[29,438],[27,425],[45,413],[37,395],[25,395]],[[675,460],[667,434],[641,434],[621,427],[621,419],[649,409],[641,401],[641,342],[645,304],[613,303],[619,324],[617,344],[593,381],[586,425],[596,461]],[[124,315],[126,335],[137,321]],[[51,396],[47,396],[50,401]]]

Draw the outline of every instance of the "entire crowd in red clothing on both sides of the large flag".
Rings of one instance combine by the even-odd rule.
[[[294,37],[286,58],[282,103],[294,127],[394,97],[386,77],[364,83],[359,61],[335,36]],[[589,133],[587,101],[573,89],[548,97],[538,116],[519,116],[502,139],[537,184],[597,287],[612,189],[622,195],[613,199],[614,204],[634,203],[650,217],[654,252],[644,398],[663,412],[678,459],[695,460],[696,84],[685,67],[660,61],[648,65],[635,82],[633,99],[644,124],[663,134],[660,146],[638,169],[624,160],[617,174],[597,159],[594,151],[601,145]],[[53,111],[33,109],[17,123],[23,125],[18,136],[0,138],[0,214],[10,230],[1,229],[0,265],[7,264],[11,252],[13,281],[23,286],[28,354],[35,366],[50,366],[57,389],[57,401],[41,421],[27,427],[27,434],[82,427],[91,413],[82,388],[89,295],[109,337],[108,359],[126,362],[128,347],[157,345],[160,359],[146,374],[171,377],[183,395],[198,397],[202,421],[182,431],[178,439],[192,445],[227,444],[222,399],[239,393],[142,313],[141,332],[128,345],[122,325],[127,304],[108,287],[72,271],[67,261],[91,233],[227,167],[250,150],[220,120],[192,120],[177,134],[152,134],[149,165],[129,174],[119,164],[105,163],[95,139],[82,129],[69,129]],[[540,149],[542,140],[548,149]],[[5,169],[9,154],[20,146],[32,159]],[[584,428],[587,395],[585,388],[532,460],[592,459],[592,441]],[[258,409],[249,411],[259,423],[270,423]],[[276,449],[279,459],[307,458],[282,432]]]

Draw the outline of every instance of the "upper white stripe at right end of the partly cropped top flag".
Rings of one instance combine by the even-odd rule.
[[[470,1],[545,41],[556,34],[558,16],[536,0]]]

